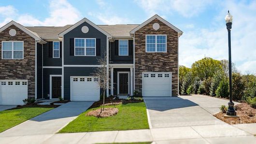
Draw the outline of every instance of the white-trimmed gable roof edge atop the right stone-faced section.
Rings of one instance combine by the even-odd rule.
[[[171,27],[173,30],[175,30],[176,32],[178,32],[178,35],[181,36],[183,34],[183,32],[178,29],[177,27],[175,27],[174,25],[170,24],[169,22],[167,22],[165,19],[161,18],[159,15],[154,15],[151,18],[149,18],[148,20],[146,20],[144,23],[140,24],[139,26],[135,27],[133,30],[130,31],[131,34],[134,34],[137,30],[139,30],[140,28],[142,28],[143,26],[145,26],[146,24],[150,23],[151,21],[158,19],[159,21],[163,22],[164,24],[166,24],[167,26]]]

